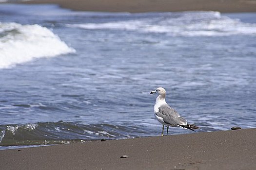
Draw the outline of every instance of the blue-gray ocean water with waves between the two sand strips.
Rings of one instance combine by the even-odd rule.
[[[256,127],[256,13],[0,4],[0,149],[158,136],[159,86],[198,132]]]

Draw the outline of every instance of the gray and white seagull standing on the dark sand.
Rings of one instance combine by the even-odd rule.
[[[156,90],[150,92],[150,94],[155,93],[158,94],[158,97],[154,106],[154,115],[163,125],[161,136],[163,136],[164,125],[167,125],[166,136],[168,135],[169,126],[179,126],[185,129],[190,129],[192,131],[195,131],[194,129],[200,129],[195,125],[188,124],[185,118],[180,117],[178,112],[165,102],[166,91],[163,87],[158,87]]]

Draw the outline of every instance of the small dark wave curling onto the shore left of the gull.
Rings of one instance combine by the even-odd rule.
[[[0,146],[45,145],[85,142],[98,139],[136,137],[136,133],[150,136],[139,127],[74,122],[39,122],[32,124],[0,125]],[[137,136],[138,137],[138,136]]]

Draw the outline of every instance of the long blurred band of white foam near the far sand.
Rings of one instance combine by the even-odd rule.
[[[165,33],[173,36],[223,36],[256,34],[256,24],[221,16],[219,12],[163,13],[156,17],[135,17],[126,21],[67,24],[88,30],[122,30]]]

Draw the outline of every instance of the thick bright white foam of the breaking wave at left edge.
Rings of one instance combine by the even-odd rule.
[[[0,68],[70,52],[75,50],[45,27],[0,22]]]

